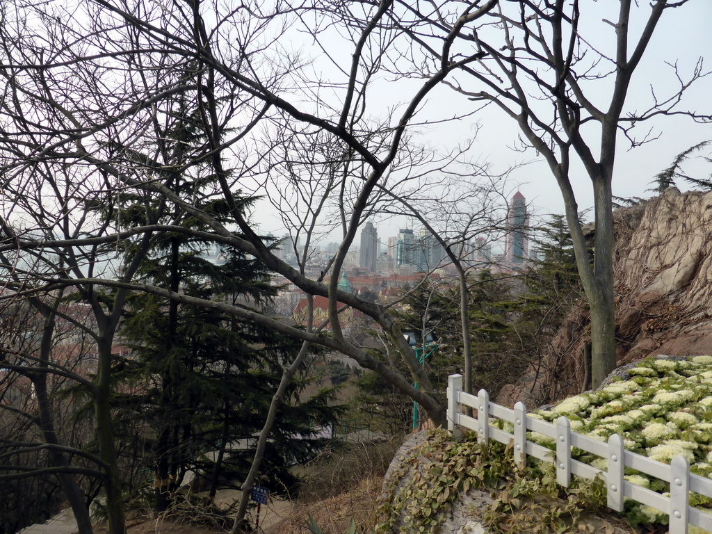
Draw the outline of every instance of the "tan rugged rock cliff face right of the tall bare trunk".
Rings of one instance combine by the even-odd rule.
[[[668,189],[645,204],[618,251],[622,362],[711,354],[712,193]]]

